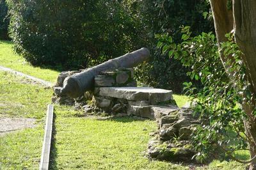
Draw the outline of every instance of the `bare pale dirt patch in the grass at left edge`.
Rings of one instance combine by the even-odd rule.
[[[35,121],[30,118],[0,118],[0,136],[15,130],[36,127]]]

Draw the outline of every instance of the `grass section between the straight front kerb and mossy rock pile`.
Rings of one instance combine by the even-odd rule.
[[[60,118],[61,112],[56,114],[51,169],[188,169],[145,157],[148,132],[156,129],[154,121]]]

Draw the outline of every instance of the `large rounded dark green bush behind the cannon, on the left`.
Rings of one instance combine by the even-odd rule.
[[[8,4],[15,50],[33,65],[86,68],[139,48],[136,20],[118,1]]]

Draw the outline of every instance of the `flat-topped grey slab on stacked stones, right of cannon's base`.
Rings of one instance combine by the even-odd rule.
[[[162,116],[176,112],[172,91],[145,87],[100,87],[94,91],[96,107],[113,114],[159,120]]]

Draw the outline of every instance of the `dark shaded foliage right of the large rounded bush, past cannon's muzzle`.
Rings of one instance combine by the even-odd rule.
[[[136,8],[135,8],[136,9]],[[137,75],[141,82],[157,88],[172,89],[175,93],[182,91],[182,83],[189,81],[186,75],[188,68],[184,68],[175,59],[168,58],[156,49],[155,34],[168,33],[173,41],[180,42],[180,26],[191,26],[194,35],[202,31],[213,31],[211,20],[204,19],[204,13],[209,12],[210,6],[204,0],[146,0],[140,3],[140,13],[144,27],[147,30],[148,47],[152,54],[152,61],[138,67]]]

